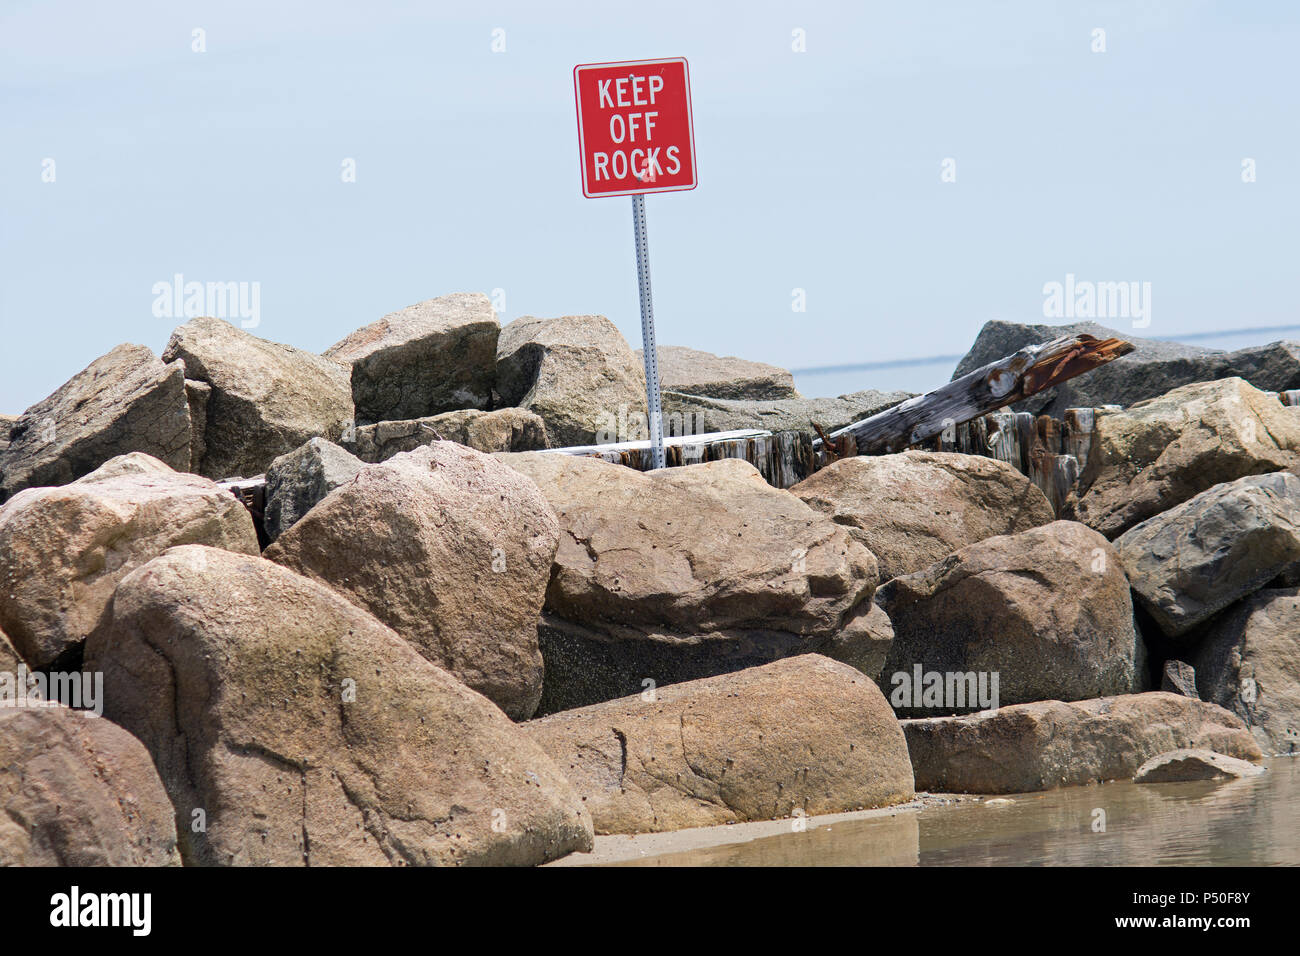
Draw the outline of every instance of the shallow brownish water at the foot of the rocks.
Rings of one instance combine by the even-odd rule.
[[[837,822],[625,866],[1300,865],[1300,758],[1225,783],[1102,783]],[[1097,813],[1101,810],[1104,817]],[[1105,829],[1095,829],[1104,822]]]

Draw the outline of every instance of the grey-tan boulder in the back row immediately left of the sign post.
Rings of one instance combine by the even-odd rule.
[[[645,369],[602,315],[524,316],[506,325],[497,343],[497,392],[498,405],[540,415],[556,447],[595,444],[620,411],[646,407]]]

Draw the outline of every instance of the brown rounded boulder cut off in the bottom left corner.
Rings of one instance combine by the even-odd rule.
[[[179,866],[148,750],[86,714],[0,708],[0,866]]]

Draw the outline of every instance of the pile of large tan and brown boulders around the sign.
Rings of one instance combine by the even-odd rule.
[[[708,429],[897,401],[662,359],[670,408],[733,416]],[[448,295],[324,355],[214,319],[121,346],[0,449],[0,689],[103,680],[0,708],[0,864],[538,864],[916,788],[1244,775],[1300,743],[1300,410],[1257,384],[1100,416],[1057,520],[954,453],[784,490],[549,451],[644,403],[601,316]],[[252,475],[256,514],[214,480]]]

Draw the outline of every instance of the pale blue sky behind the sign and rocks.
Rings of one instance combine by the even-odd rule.
[[[1067,272],[1149,281],[1141,334],[1300,323],[1295,3],[4,0],[0,411],[161,350],[174,273],[260,282],[256,334],[313,350],[493,289],[503,321],[601,312],[636,347],[630,203],[582,198],[572,68],[662,56],[690,61],[699,187],[646,203],[660,343],[962,352]]]

